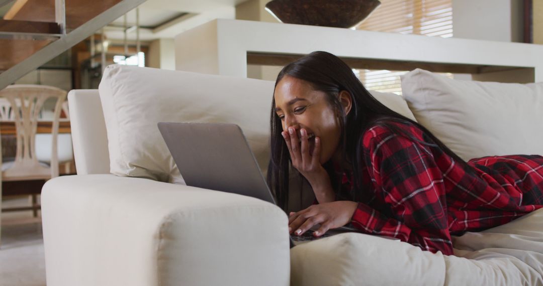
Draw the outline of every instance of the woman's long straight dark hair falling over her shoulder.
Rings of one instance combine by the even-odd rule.
[[[392,111],[392,109],[376,100],[358,80],[352,69],[337,56],[325,51],[314,51],[309,55],[301,57],[287,64],[281,70],[275,81],[275,87],[277,87],[277,83],[286,75],[307,81],[313,89],[324,92],[327,102],[336,112],[339,127],[342,130],[339,140],[340,154],[342,155],[342,159],[352,165],[353,168],[353,187],[355,191],[350,193],[349,200],[359,201],[363,196],[364,187],[362,186],[361,170],[364,164],[362,161],[362,137],[368,128],[375,125],[386,126],[397,134],[401,134],[425,145],[439,146],[441,150],[458,161],[458,163],[469,168],[468,164],[462,158],[447,148],[443,142],[437,139],[424,126]],[[352,98],[352,107],[348,115],[345,115],[343,106],[338,98],[338,94],[342,90],[346,90]],[[411,123],[418,126],[429,137],[430,140],[428,141],[433,141],[433,144],[421,142],[413,134],[398,128],[394,124],[390,124],[390,122]],[[282,131],[281,120],[275,113],[275,99],[273,99],[270,114],[271,158],[267,177],[268,184],[275,194],[277,203],[283,210],[286,210],[288,206],[291,158],[285,140],[281,136]],[[336,192],[339,192],[340,180],[334,175],[331,162],[325,163],[323,167],[330,175],[332,186],[336,186]]]

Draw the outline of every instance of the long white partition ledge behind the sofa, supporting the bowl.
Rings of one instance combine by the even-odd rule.
[[[242,31],[242,32],[240,32]],[[349,44],[344,43],[349,39]],[[193,43],[200,43],[194,46]],[[528,67],[523,82],[543,80],[543,46],[537,44],[426,37],[374,31],[217,19],[175,37],[176,69],[247,77],[247,52],[307,54],[326,50],[340,57],[424,63]],[[394,70],[394,68],[391,68]],[[517,69],[507,69],[517,74]],[[506,82],[485,73],[485,80]],[[493,78],[491,78],[493,77]],[[474,77],[475,78],[475,77]],[[519,80],[516,80],[520,82]]]

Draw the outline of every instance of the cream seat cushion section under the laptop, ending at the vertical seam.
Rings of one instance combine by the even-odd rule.
[[[441,252],[362,233],[342,233],[291,249],[291,285],[444,285]]]

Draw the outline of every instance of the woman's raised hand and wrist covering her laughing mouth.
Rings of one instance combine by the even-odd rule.
[[[309,181],[319,203],[334,201],[335,194],[330,177],[320,164],[320,138],[315,137],[313,153],[310,154],[306,129],[300,129],[300,139],[294,127],[289,127],[288,132],[283,131],[281,134],[291,155],[292,166]]]

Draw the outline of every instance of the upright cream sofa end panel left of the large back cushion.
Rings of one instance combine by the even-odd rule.
[[[98,90],[72,90],[68,106],[77,173],[109,174],[108,136]]]

